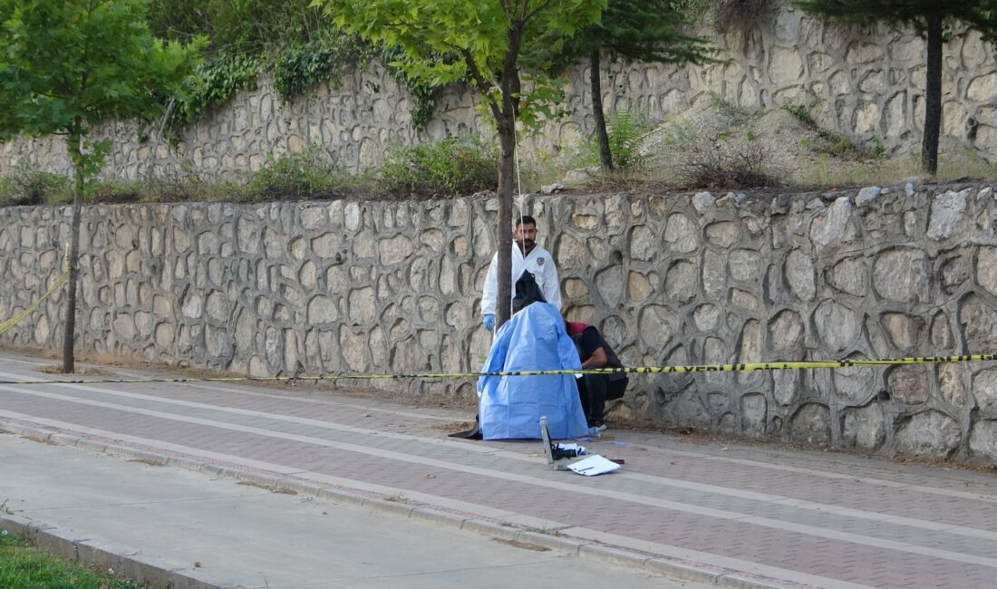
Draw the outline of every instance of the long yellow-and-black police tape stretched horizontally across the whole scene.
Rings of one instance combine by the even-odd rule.
[[[997,354],[970,354],[963,356],[917,356],[889,360],[813,360],[799,362],[752,362],[746,364],[703,364],[694,366],[650,366],[636,368],[597,368],[588,370],[522,370],[514,372],[467,373],[414,373],[400,375],[325,375],[319,377],[205,377],[190,379],[83,379],[50,381],[0,381],[0,385],[55,385],[55,384],[138,384],[138,383],[236,383],[236,382],[302,382],[302,381],[373,381],[382,379],[467,379],[479,377],[539,377],[561,375],[611,375],[611,374],[684,374],[701,372],[751,372],[759,370],[805,370],[815,368],[858,368],[897,366],[905,364],[938,364],[943,362],[992,362]]]

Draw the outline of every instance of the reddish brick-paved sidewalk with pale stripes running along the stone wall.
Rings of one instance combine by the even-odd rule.
[[[0,380],[48,378],[37,372],[44,361],[0,362]],[[997,573],[993,474],[610,431],[585,444],[626,465],[582,477],[550,470],[538,442],[446,438],[467,417],[241,385],[0,386],[8,432],[584,562],[739,587],[985,587]]]

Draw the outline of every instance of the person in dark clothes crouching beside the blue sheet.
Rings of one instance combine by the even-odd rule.
[[[565,321],[567,333],[574,341],[581,359],[583,370],[595,368],[623,368],[616,352],[606,343],[599,330],[585,323]],[[578,396],[581,398],[581,408],[585,412],[585,420],[590,429],[602,432],[606,429],[606,401],[623,397],[629,379],[625,374],[583,375],[578,379]]]

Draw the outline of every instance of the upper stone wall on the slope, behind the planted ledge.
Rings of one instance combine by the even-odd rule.
[[[802,105],[821,128],[877,139],[885,147],[919,142],[925,46],[911,32],[880,28],[868,34],[829,26],[782,6],[743,29],[701,33],[714,38],[729,64],[610,66],[603,80],[606,109],[641,109],[663,119],[716,95],[745,109]],[[943,135],[997,161],[994,48],[978,33],[955,34],[945,46],[943,77]],[[584,68],[570,72],[567,106],[572,117],[525,139],[525,153],[543,149],[556,154],[590,130],[587,80]],[[413,130],[411,106],[406,90],[379,68],[352,72],[338,86],[319,85],[286,105],[264,76],[255,90],[239,94],[188,130],[175,150],[167,148],[156,130],[144,131],[135,123],[109,122],[95,135],[117,137],[105,170],[109,177],[191,172],[232,177],[259,169],[267,157],[309,145],[358,170],[379,160],[391,144],[484,129],[473,97],[460,88],[445,93],[425,132]],[[138,140],[147,135],[150,139]],[[56,171],[70,168],[58,138],[0,144],[0,175],[18,162]]]

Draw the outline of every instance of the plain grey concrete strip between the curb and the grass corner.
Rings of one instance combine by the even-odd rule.
[[[159,587],[707,587],[81,448],[0,456],[0,527]]]

